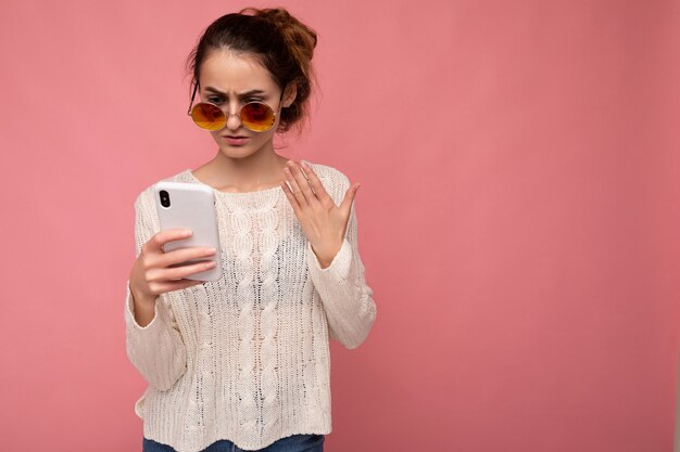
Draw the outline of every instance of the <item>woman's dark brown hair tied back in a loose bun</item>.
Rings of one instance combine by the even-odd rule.
[[[298,93],[291,105],[281,108],[278,131],[285,132],[301,119],[308,119],[312,80],[312,56],[316,31],[281,8],[259,10],[245,8],[239,13],[223,15],[203,31],[187,59],[192,74],[190,89],[199,85],[201,65],[210,52],[227,50],[251,53],[272,74],[284,90],[295,85]]]

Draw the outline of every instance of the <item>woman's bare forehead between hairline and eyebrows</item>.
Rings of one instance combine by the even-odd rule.
[[[227,94],[253,89],[272,92],[276,82],[272,74],[249,53],[213,51],[201,65],[201,87],[213,87]]]

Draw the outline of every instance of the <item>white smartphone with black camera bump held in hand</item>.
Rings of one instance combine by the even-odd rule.
[[[206,246],[216,249],[213,256],[189,259],[172,267],[182,267],[202,261],[215,261],[210,270],[185,276],[193,281],[217,281],[222,277],[219,229],[215,210],[215,193],[206,185],[185,182],[161,181],[154,185],[155,208],[159,212],[161,230],[190,229],[191,236],[167,242],[165,253],[178,248]]]

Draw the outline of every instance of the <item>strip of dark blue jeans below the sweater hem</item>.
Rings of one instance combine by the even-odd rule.
[[[292,435],[280,438],[259,452],[324,452],[324,435]],[[239,449],[229,440],[221,439],[213,442],[201,452],[241,452],[247,449]],[[177,452],[167,444],[155,442],[152,439],[143,438],[142,452]]]

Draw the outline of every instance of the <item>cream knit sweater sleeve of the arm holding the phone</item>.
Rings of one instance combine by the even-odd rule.
[[[143,195],[143,193],[142,193]],[[140,195],[135,202],[136,256],[154,234]],[[154,318],[147,326],[135,321],[135,302],[129,280],[126,283],[125,324],[127,357],[149,384],[159,390],[169,389],[185,373],[187,354],[184,341],[165,294],[155,300]]]

